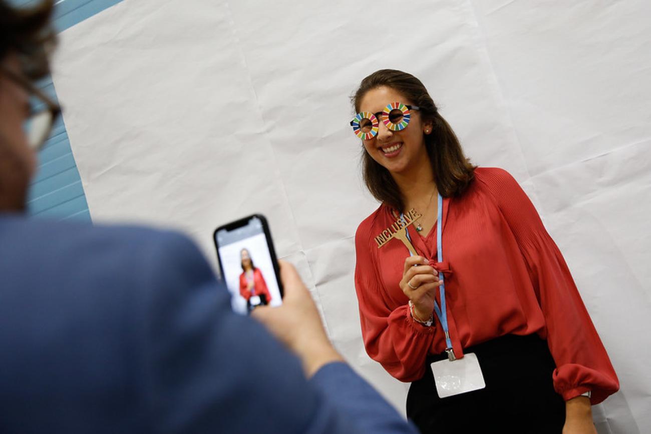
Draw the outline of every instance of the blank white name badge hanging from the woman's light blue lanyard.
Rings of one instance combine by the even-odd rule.
[[[486,387],[482,368],[475,353],[464,355],[454,362],[445,359],[432,363],[432,373],[439,398],[472,392]]]

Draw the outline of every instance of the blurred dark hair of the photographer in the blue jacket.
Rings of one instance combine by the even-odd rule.
[[[0,0],[0,60],[16,53],[22,73],[29,79],[49,74],[48,55],[56,36],[51,26],[53,0],[44,0],[29,8],[15,8]]]

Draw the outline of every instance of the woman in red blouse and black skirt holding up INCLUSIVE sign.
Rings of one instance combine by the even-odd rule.
[[[353,103],[381,202],[355,236],[362,334],[411,382],[408,417],[423,433],[596,433],[590,404],[618,379],[516,180],[469,163],[413,75],[375,72]]]

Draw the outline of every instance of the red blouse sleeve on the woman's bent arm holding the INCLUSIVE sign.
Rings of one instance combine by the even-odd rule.
[[[395,306],[383,288],[376,267],[373,237],[367,221],[355,234],[355,291],[359,302],[364,346],[371,359],[380,362],[400,381],[420,379],[425,359],[434,339],[434,329],[415,323],[409,314],[407,298]]]

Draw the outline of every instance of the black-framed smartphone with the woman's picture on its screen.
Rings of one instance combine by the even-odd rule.
[[[219,271],[238,314],[283,303],[278,260],[264,215],[254,214],[224,224],[213,234]]]

